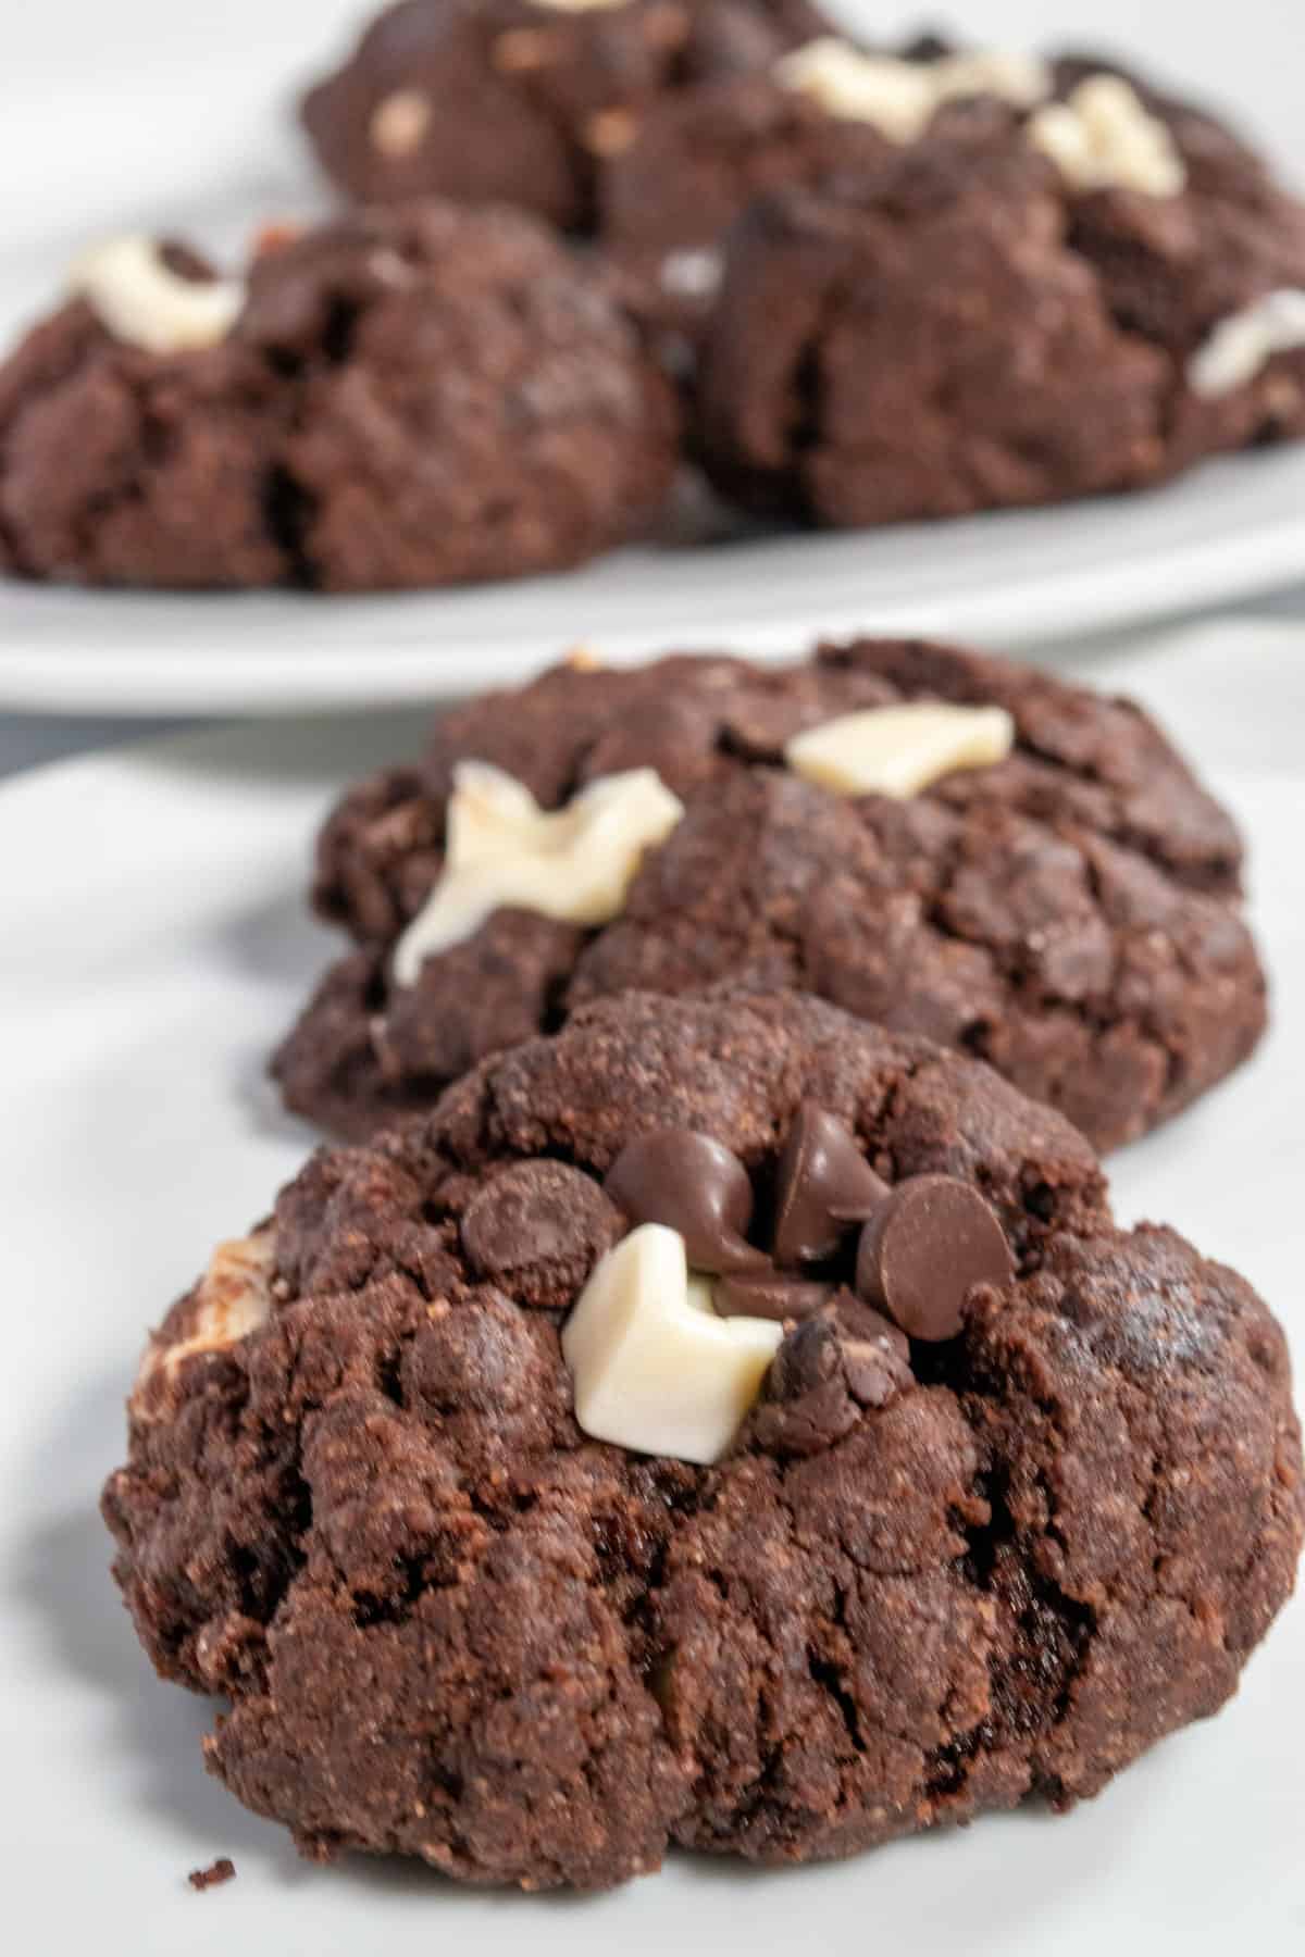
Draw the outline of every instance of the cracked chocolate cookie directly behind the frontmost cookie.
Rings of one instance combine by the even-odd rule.
[[[927,701],[1008,714],[1013,751],[914,795],[892,781],[830,789],[800,753],[787,761],[804,730]],[[507,888],[397,973],[432,892],[462,888],[444,851],[468,761],[552,810],[652,769],[683,818],[650,808],[605,920]],[[599,863],[595,849],[579,867]],[[362,783],[331,816],[315,904],[358,949],[274,1070],[292,1108],[366,1135],[599,994],[732,978],[812,990],[976,1053],[1115,1147],[1227,1074],[1264,1029],[1238,883],[1233,824],[1154,724],[1027,667],[871,640],[769,669],[560,667],[448,712],[421,767]]]

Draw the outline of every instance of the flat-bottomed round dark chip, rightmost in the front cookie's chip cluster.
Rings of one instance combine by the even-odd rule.
[[[857,1292],[912,1339],[955,1339],[972,1286],[1013,1274],[994,1209],[957,1176],[898,1182],[861,1231]]]

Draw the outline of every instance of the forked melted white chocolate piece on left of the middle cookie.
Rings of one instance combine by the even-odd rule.
[[[546,812],[503,769],[460,761],[444,871],[395,945],[395,982],[415,984],[428,957],[472,937],[503,906],[608,924],[624,910],[644,851],[665,842],[683,814],[652,767],[603,775]]]

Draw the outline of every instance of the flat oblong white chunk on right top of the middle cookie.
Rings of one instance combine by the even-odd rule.
[[[951,706],[908,701],[869,706],[808,728],[785,748],[796,775],[835,795],[892,795],[906,800],[961,767],[992,767],[1015,744],[1004,706]]]

